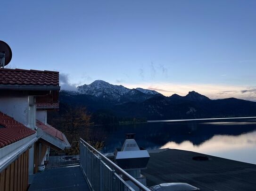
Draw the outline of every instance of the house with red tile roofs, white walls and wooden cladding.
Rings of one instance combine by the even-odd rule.
[[[47,111],[58,109],[59,90],[58,72],[0,69],[0,191],[25,191],[50,147],[70,147],[47,123]]]

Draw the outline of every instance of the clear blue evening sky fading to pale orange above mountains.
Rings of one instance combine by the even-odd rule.
[[[101,79],[256,101],[255,10],[255,0],[8,0],[0,40],[9,67],[57,70],[66,88]]]

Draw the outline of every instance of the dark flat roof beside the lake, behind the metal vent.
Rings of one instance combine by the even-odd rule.
[[[256,165],[177,149],[149,153],[147,186],[189,183],[202,191],[256,191]],[[209,160],[192,160],[207,156]]]

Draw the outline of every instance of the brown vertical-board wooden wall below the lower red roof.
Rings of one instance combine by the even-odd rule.
[[[28,159],[26,150],[17,160],[0,172],[0,191],[26,191],[28,188]]]

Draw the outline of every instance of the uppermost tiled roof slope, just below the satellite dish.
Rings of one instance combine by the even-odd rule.
[[[55,71],[0,69],[1,85],[58,86],[58,77]]]

